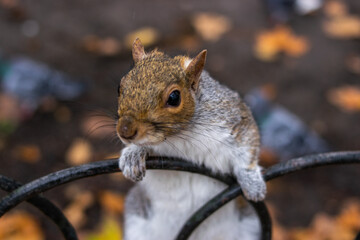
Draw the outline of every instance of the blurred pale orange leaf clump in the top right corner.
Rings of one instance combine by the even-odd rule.
[[[323,24],[326,34],[339,39],[360,38],[360,17],[349,14],[343,1],[329,1],[324,10],[328,16]]]

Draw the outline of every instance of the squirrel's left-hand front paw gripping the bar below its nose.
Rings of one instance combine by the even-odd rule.
[[[142,147],[129,146],[122,150],[119,168],[127,179],[137,182],[145,177],[146,156],[146,150]]]

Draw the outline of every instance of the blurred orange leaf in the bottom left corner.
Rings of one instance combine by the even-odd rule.
[[[44,234],[36,219],[26,212],[7,213],[0,218],[0,239],[42,240]]]

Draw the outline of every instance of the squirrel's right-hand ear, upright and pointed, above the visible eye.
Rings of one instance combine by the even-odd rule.
[[[199,87],[200,75],[204,69],[207,50],[202,50],[187,66],[185,72],[191,88],[196,92]]]

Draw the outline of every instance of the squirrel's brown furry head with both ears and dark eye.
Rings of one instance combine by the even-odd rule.
[[[136,39],[132,56],[135,65],[119,85],[117,134],[126,144],[158,144],[191,122],[206,50],[171,58],[145,53]]]

